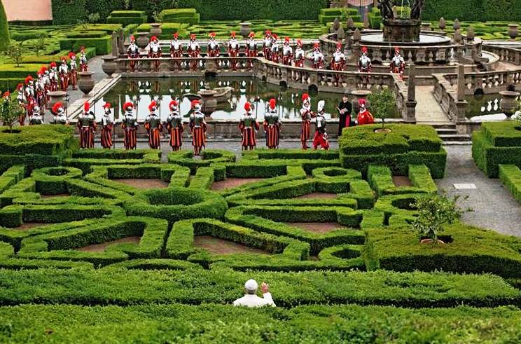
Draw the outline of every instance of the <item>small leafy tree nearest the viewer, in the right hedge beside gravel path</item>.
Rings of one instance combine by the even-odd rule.
[[[449,198],[443,192],[440,195],[416,198],[415,203],[411,204],[411,207],[418,211],[418,216],[411,225],[412,230],[431,239],[433,245],[438,243],[438,233],[443,232],[445,224],[454,223],[464,213],[472,212],[471,208],[461,209],[459,207],[460,197],[460,195],[455,195],[454,198]]]

